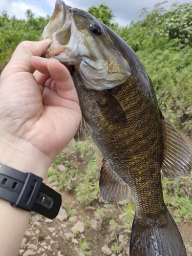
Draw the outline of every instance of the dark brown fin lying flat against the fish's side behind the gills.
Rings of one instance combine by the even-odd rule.
[[[118,100],[108,91],[97,101],[100,111],[113,123],[126,123],[126,114]]]

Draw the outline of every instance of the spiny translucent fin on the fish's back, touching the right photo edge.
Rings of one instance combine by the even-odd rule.
[[[183,137],[164,121],[164,158],[162,172],[165,177],[174,179],[189,176],[191,172],[191,154]]]

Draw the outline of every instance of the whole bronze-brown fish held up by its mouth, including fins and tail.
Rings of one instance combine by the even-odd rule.
[[[162,169],[168,178],[189,176],[190,151],[162,116],[153,84],[136,53],[86,11],[56,2],[41,39],[43,54],[74,65],[82,121],[75,140],[90,136],[103,155],[100,191],[104,200],[127,199],[136,212],[131,256],[185,256],[179,230],[165,206]]]

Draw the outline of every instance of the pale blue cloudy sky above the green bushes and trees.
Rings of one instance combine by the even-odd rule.
[[[54,10],[56,0],[0,0],[0,15],[6,11],[11,17],[26,18],[25,12],[30,9],[36,16],[51,15]],[[119,23],[120,26],[129,25],[131,20],[137,21],[138,14],[142,8],[152,10],[153,7],[163,0],[66,0],[65,3],[69,6],[88,10],[89,7],[98,6],[105,3],[110,9],[113,10],[116,19],[114,22]],[[176,2],[175,0],[167,0],[163,7],[170,9],[170,6]],[[179,3],[192,3],[192,0],[179,0]]]

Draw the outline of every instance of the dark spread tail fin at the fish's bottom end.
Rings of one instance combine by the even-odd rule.
[[[178,227],[167,210],[163,220],[134,217],[130,256],[186,256]]]

